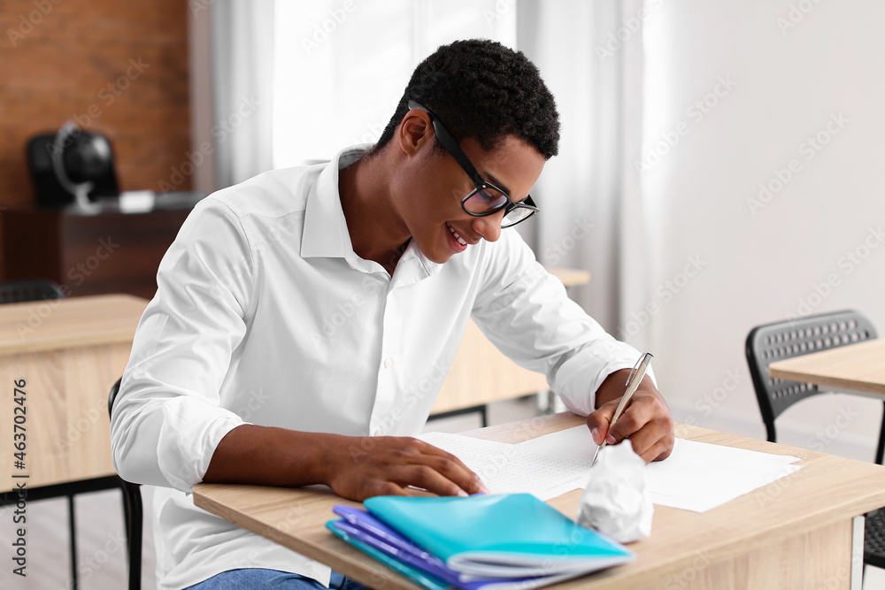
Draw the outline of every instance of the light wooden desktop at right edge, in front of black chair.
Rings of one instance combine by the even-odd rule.
[[[885,396],[885,340],[795,356],[770,364],[768,372],[777,379],[813,383],[821,389],[881,400]]]

